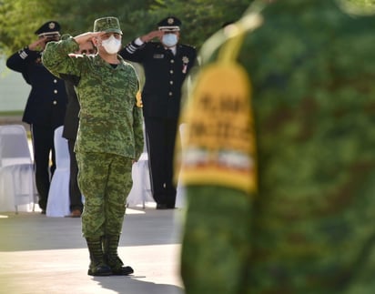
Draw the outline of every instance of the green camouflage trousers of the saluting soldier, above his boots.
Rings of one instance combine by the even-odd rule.
[[[127,195],[133,185],[132,159],[114,154],[78,152],[78,186],[85,197],[82,232],[85,238],[119,235]]]

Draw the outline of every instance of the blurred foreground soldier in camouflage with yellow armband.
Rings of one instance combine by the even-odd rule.
[[[339,3],[260,1],[203,46],[183,113],[187,294],[375,291],[375,17]]]

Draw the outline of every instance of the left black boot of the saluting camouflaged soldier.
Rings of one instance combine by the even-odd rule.
[[[111,268],[106,265],[103,255],[102,238],[86,238],[88,251],[90,252],[90,265],[87,275],[109,276],[112,275]]]

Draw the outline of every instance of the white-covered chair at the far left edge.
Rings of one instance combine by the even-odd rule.
[[[34,165],[25,127],[0,126],[0,211],[35,210]]]

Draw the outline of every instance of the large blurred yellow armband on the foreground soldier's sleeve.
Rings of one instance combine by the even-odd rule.
[[[242,34],[228,41],[218,60],[200,71],[181,114],[188,126],[180,151],[184,185],[257,190],[252,87],[247,71],[237,62]]]

